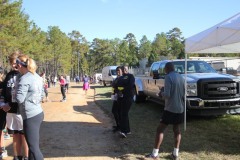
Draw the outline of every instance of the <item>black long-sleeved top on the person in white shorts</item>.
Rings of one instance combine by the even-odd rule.
[[[20,77],[20,73],[18,71],[10,71],[5,80],[3,81],[2,88],[2,96],[4,98],[4,102],[8,103],[11,109],[8,113],[19,113],[19,108],[17,102],[12,102],[12,90],[16,91],[18,79]],[[16,95],[16,94],[15,94]],[[15,97],[16,98],[16,97]]]

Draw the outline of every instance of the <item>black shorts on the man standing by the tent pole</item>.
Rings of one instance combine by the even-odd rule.
[[[181,124],[184,121],[184,112],[183,113],[173,113],[169,111],[164,111],[162,115],[161,123],[166,125],[168,124]]]

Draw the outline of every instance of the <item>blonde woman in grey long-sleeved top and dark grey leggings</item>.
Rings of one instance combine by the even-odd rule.
[[[39,147],[39,132],[44,113],[41,106],[44,88],[41,77],[36,73],[36,63],[27,55],[20,55],[17,68],[21,73],[16,100],[23,118],[23,129],[29,147],[29,160],[43,160]]]

